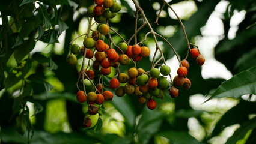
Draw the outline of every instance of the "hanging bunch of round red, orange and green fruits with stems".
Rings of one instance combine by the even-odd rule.
[[[76,55],[81,53],[83,56],[82,67],[78,72],[79,78],[76,83],[76,86],[78,87],[76,98],[80,103],[87,102],[88,104],[88,115],[85,116],[84,119],[85,127],[91,127],[90,116],[99,113],[104,102],[111,101],[113,97],[122,97],[125,94],[136,95],[138,103],[146,103],[148,109],[153,110],[157,106],[154,99],[162,99],[164,97],[164,91],[169,91],[169,95],[171,95],[172,98],[176,98],[178,97],[177,87],[182,86],[186,90],[191,87],[191,82],[186,77],[189,70],[189,62],[186,60],[188,55],[185,59],[180,61],[180,58],[171,43],[160,34],[154,32],[138,2],[135,0],[132,1],[136,7],[135,22],[138,22],[138,13],[141,13],[144,19],[144,24],[140,28],[135,28],[135,34],[133,34],[128,41],[124,40],[118,32],[114,31],[114,29],[111,29],[108,23],[108,20],[114,18],[121,10],[121,5],[115,0],[95,0],[94,5],[88,7],[87,10],[87,16],[90,17],[90,21],[88,31],[84,34],[85,38],[82,43],[83,46],[80,48],[79,44],[73,43],[78,37],[70,43],[70,55],[67,56],[67,64],[75,65],[77,62]],[[165,4],[171,8],[171,5],[167,2],[165,2]],[[171,10],[173,9],[171,8]],[[91,29],[95,24],[93,23],[93,20],[97,25],[97,29]],[[180,24],[183,26],[181,20]],[[145,35],[143,41],[137,43],[136,35],[142,28],[144,28],[144,26],[148,26],[150,31]],[[182,28],[187,40],[190,56],[196,58],[198,65],[203,65],[203,55],[200,54],[200,51],[195,44],[189,43],[186,31],[184,31],[184,26]],[[115,44],[112,41],[111,34],[109,34],[110,31],[118,35],[123,41]],[[145,71],[142,68],[137,68],[136,63],[141,61],[142,58],[150,56],[150,48],[143,45],[149,34],[153,35],[156,43],[156,52],[151,61],[151,70]],[[166,43],[169,44],[180,62],[177,76],[175,76],[174,79],[172,79],[170,75],[171,68],[165,62],[163,52],[159,47],[156,37],[162,38],[163,41],[166,41]],[[134,40],[135,43],[130,44],[131,40]],[[190,45],[194,46],[194,48],[191,49]],[[157,52],[160,52],[159,59],[156,59]],[[87,64],[85,64],[85,59],[88,59]],[[91,64],[90,61],[93,61],[93,64]],[[158,64],[160,61],[162,61],[162,65]],[[134,67],[127,68],[127,73],[119,70],[120,65],[127,65],[129,62],[133,62]],[[160,66],[160,68],[156,68],[156,65]],[[115,76],[111,77],[108,83],[103,82],[103,78],[111,74],[111,67],[116,69]],[[99,75],[99,83],[94,84],[96,82],[93,82],[92,80],[96,74]],[[169,77],[171,81],[168,81],[167,77]],[[84,79],[89,80],[91,85],[93,85],[91,91],[85,89]],[[79,88],[79,82],[82,82],[83,90]],[[112,91],[107,91],[105,89],[106,87],[113,89],[114,94]],[[100,117],[98,121],[102,121]]]

